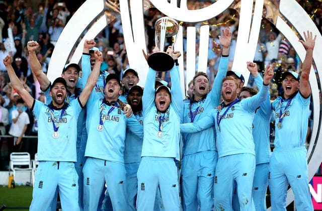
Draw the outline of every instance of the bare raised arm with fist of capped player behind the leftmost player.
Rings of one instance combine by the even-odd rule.
[[[50,85],[50,81],[47,75],[42,71],[41,64],[37,59],[36,50],[38,50],[38,48],[39,44],[37,43],[37,41],[29,41],[27,43],[31,70],[39,81],[41,90],[46,90],[46,88],[48,88],[48,86]]]

